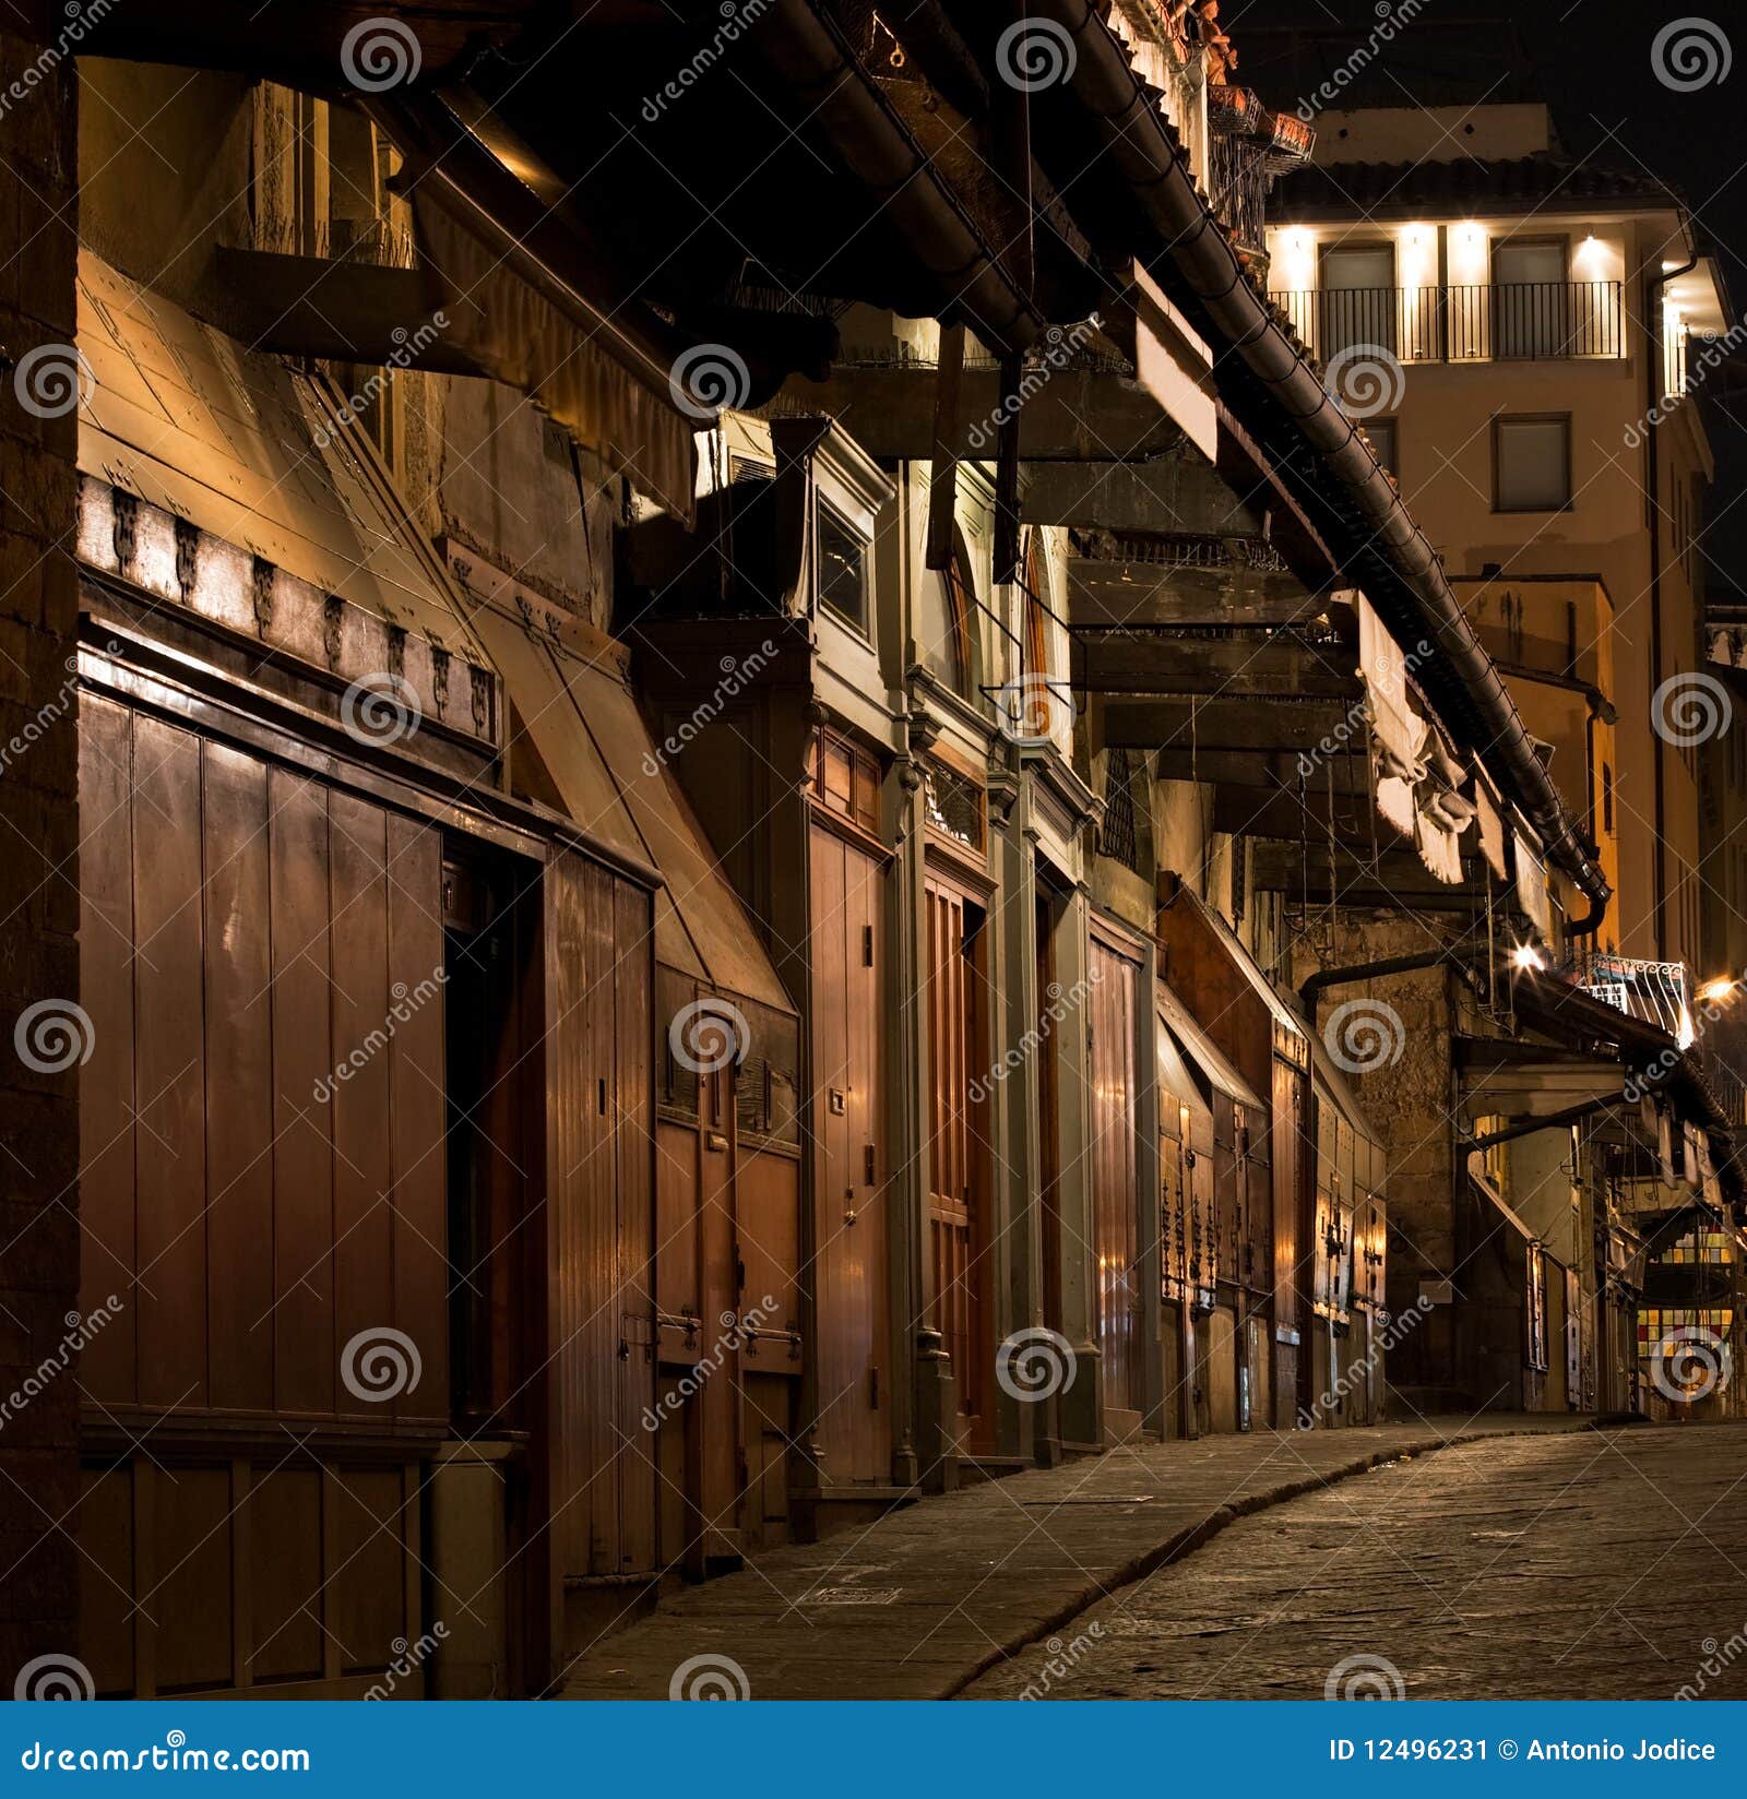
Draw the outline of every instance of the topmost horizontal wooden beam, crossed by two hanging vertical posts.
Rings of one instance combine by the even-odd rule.
[[[1035,385],[1020,407],[1022,462],[1121,462],[1171,450],[1182,434],[1159,401],[1128,376],[1089,365],[1029,371]],[[838,367],[829,381],[795,378],[783,389],[784,408],[828,412],[874,459],[923,461],[934,453],[934,389],[927,363]],[[968,455],[995,455],[1000,423],[1000,372],[966,369],[959,416]]]

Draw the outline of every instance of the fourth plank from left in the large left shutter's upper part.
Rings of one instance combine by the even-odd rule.
[[[333,1144],[317,1081],[333,1072],[327,962],[327,795],[273,770],[273,1392],[281,1410],[331,1412]]]

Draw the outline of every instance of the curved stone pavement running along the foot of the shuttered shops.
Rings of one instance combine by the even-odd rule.
[[[1488,1414],[1204,1437],[925,1499],[684,1589],[581,1655],[563,1698],[666,1698],[682,1664],[707,1677],[721,1660],[752,1698],[950,1698],[1249,1513],[1378,1463],[1580,1427]],[[1585,1439],[1599,1445],[1592,1432]]]

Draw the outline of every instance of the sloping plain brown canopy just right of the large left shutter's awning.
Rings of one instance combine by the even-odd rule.
[[[479,579],[477,556],[470,561]],[[565,808],[614,847],[660,869],[655,959],[721,993],[793,1011],[617,660],[585,660],[538,622],[529,628],[500,610],[493,595],[475,599],[473,626]]]

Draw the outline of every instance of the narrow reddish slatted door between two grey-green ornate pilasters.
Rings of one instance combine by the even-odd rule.
[[[988,1180],[977,1081],[986,1065],[975,968],[975,908],[943,882],[927,883],[925,988],[928,1007],[928,1245],[930,1322],[941,1333],[968,1436],[984,1416],[988,1346],[982,1311],[982,1232]]]

